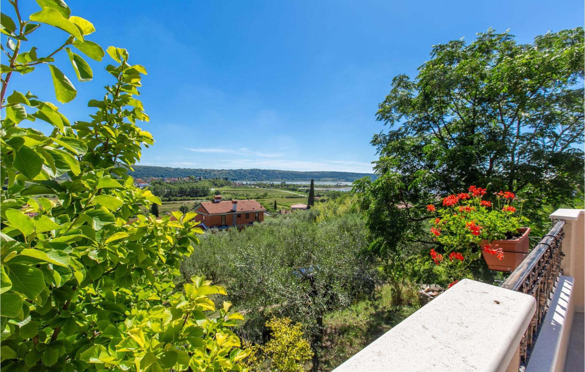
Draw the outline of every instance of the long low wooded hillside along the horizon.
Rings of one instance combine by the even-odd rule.
[[[353,172],[298,172],[273,169],[190,169],[171,167],[135,166],[130,172],[134,178],[149,177],[188,177],[195,175],[204,178],[228,178],[230,181],[310,181],[313,178],[320,182],[353,182],[358,178],[376,175],[371,173]]]

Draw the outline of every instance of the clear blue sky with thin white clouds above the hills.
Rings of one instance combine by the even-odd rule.
[[[488,27],[531,42],[583,26],[584,13],[582,0],[66,1],[94,23],[88,40],[124,47],[148,70],[143,128],[156,144],[140,164],[304,171],[370,172],[370,140],[384,129],[377,105],[395,75],[416,74],[433,44],[473,40]],[[26,15],[39,10],[21,4]],[[66,36],[49,28],[32,40],[59,46]],[[70,120],[85,120],[87,101],[111,82],[108,56],[87,61],[94,80],[78,82],[66,54],[57,58],[78,89],[61,105]],[[48,68],[38,70],[14,76],[8,91],[56,102]]]

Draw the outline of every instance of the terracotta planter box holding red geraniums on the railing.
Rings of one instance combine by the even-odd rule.
[[[501,248],[503,250],[504,258],[501,260],[498,260],[498,257],[495,254],[484,252],[483,247],[481,247],[481,255],[483,256],[483,259],[486,260],[487,267],[490,268],[490,270],[511,273],[518,267],[522,260],[528,256],[528,250],[530,249],[530,244],[528,242],[530,228],[521,228],[518,229],[518,232],[522,233],[522,236],[519,237],[519,239],[502,239],[493,240],[491,242],[492,248]],[[489,242],[483,240],[483,244],[489,244]]]

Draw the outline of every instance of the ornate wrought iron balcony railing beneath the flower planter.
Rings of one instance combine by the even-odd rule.
[[[520,341],[522,364],[528,363],[538,336],[539,326],[544,321],[548,310],[549,299],[555,292],[559,276],[562,274],[560,260],[564,256],[562,252],[564,225],[565,221],[556,222],[548,234],[542,237],[524,261],[501,284],[501,287],[532,295],[536,299],[536,312]]]

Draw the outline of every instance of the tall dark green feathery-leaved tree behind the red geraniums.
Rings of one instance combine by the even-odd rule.
[[[432,47],[414,79],[398,75],[379,105],[378,179],[356,182],[376,252],[433,244],[438,195],[509,190],[535,227],[583,191],[583,29],[518,44],[488,30]]]

